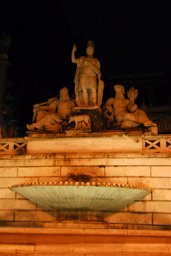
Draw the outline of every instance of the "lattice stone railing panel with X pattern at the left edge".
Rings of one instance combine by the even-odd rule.
[[[22,154],[26,152],[27,141],[24,138],[0,141],[0,154]]]

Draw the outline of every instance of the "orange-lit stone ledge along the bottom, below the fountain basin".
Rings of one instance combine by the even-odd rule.
[[[0,227],[0,256],[170,256],[171,231]]]

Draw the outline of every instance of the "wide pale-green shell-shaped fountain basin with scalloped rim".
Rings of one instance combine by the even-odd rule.
[[[56,211],[96,212],[121,211],[151,192],[142,186],[95,182],[22,183],[10,189]]]

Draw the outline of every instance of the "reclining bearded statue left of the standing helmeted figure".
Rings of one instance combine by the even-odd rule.
[[[46,104],[46,105],[45,105]],[[43,106],[44,105],[44,106]],[[26,125],[28,130],[35,131],[62,131],[62,125],[68,125],[70,116],[72,116],[75,103],[69,99],[68,89],[63,87],[60,90],[60,99],[49,99],[48,102],[35,104],[34,115],[36,122],[32,125]]]

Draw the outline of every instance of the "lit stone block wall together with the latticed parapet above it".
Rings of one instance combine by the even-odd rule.
[[[2,226],[43,227],[45,222],[55,222],[58,213],[62,213],[32,204],[31,200],[18,193],[16,195],[9,189],[13,184],[70,182],[69,176],[82,172],[92,177],[89,182],[130,184],[152,189],[152,193],[119,212],[94,211],[93,216],[97,213],[110,223],[110,228],[171,230],[170,134],[93,133],[92,137],[88,134],[58,134],[56,137],[7,138],[0,142],[2,147],[9,145],[8,151],[1,148],[0,152]],[[27,150],[20,151],[20,145],[26,143]],[[14,145],[19,145],[17,151]],[[70,213],[80,215],[79,211]],[[87,216],[91,213],[88,212]],[[81,214],[86,216],[83,211]]]

